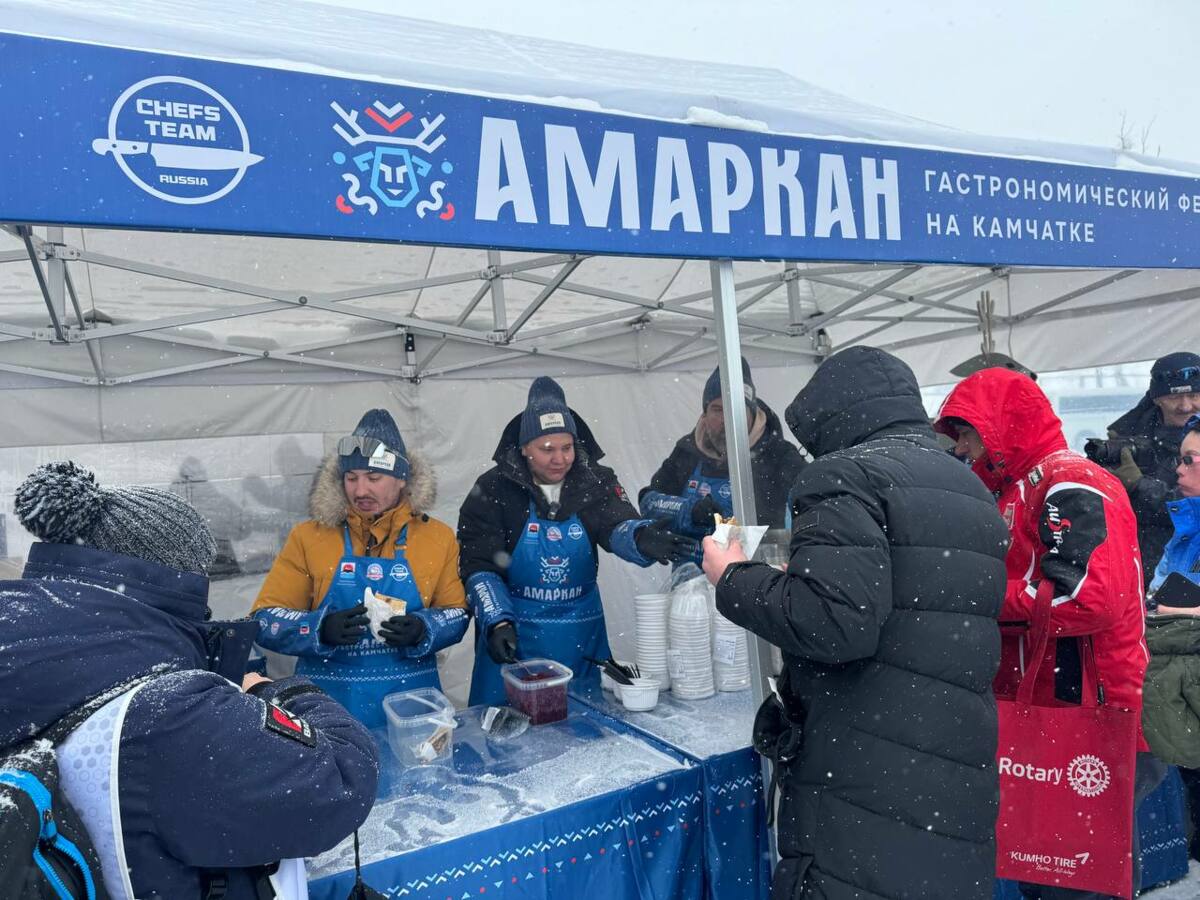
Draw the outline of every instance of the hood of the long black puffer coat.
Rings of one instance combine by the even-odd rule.
[[[874,347],[835,353],[787,407],[787,427],[814,456],[860,444],[882,431],[926,434],[917,377]]]

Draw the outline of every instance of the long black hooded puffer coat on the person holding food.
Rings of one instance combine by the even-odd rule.
[[[793,488],[787,571],[733,564],[716,590],[782,648],[803,727],[772,898],[990,898],[1008,530],[882,350],[830,356],[787,422],[816,457]]]

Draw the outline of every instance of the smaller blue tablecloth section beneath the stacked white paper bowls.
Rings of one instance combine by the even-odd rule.
[[[762,900],[770,893],[770,850],[762,769],[750,748],[755,704],[749,690],[720,691],[707,700],[661,695],[647,713],[631,713],[611,694],[577,698],[703,772],[704,896]]]

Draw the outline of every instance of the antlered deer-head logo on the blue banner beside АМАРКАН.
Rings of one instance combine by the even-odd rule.
[[[362,209],[374,216],[380,208],[412,206],[419,218],[430,212],[436,212],[444,222],[454,218],[454,204],[442,196],[446,182],[436,174],[449,175],[454,164],[449,160],[433,158],[446,139],[438,133],[444,115],[433,119],[422,115],[418,130],[409,125],[413,113],[398,101],[389,104],[376,100],[361,110],[343,109],[336,101],[329,106],[341,119],[334,131],[349,150],[334,154],[337,166],[348,167],[342,173],[346,193],[337,194],[334,200],[338,212],[352,216]],[[359,118],[360,113],[366,121]]]

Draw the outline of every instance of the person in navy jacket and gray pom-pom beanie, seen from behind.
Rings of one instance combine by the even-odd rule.
[[[216,545],[194,509],[61,462],[16,511],[41,542],[0,582],[0,749],[96,710],[59,769],[113,900],[271,896],[275,863],[362,823],[374,742],[307,679],[245,673],[257,624],[208,620]]]

